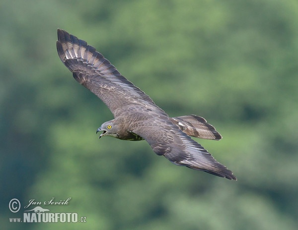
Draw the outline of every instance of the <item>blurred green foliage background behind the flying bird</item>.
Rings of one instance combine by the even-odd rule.
[[[2,0],[1,229],[296,230],[296,0]],[[56,51],[57,28],[88,42],[169,115],[204,116],[197,140],[238,181],[177,167],[143,142],[97,140],[112,119]],[[23,206],[86,223],[9,223]],[[21,212],[8,210],[18,198]]]

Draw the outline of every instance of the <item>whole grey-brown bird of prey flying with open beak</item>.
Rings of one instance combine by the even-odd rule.
[[[57,51],[74,79],[99,97],[114,115],[114,119],[97,129],[96,133],[102,131],[99,138],[146,140],[157,155],[175,165],[236,180],[230,170],[190,137],[222,138],[203,117],[169,117],[95,48],[61,29],[58,29]]]

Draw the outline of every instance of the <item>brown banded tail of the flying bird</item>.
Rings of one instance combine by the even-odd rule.
[[[222,135],[202,116],[186,115],[171,118],[184,133],[202,139],[220,140]]]

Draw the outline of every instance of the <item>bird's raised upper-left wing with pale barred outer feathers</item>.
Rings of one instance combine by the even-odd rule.
[[[130,104],[142,104],[163,112],[85,41],[58,29],[57,51],[62,62],[73,72],[74,79],[99,97],[114,116],[117,109]]]

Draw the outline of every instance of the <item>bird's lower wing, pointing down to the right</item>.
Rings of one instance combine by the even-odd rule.
[[[199,143],[174,125],[169,117],[152,117],[137,124],[132,132],[143,137],[157,155],[179,166],[205,171],[227,179],[237,178]]]

